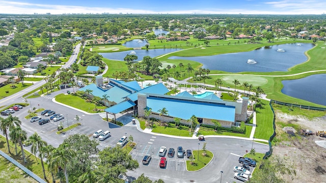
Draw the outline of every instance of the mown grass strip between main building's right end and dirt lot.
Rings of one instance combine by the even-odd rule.
[[[273,134],[273,118],[274,114],[271,111],[269,102],[261,100],[261,106],[256,107],[256,121],[257,127],[255,131],[255,138],[268,140]]]

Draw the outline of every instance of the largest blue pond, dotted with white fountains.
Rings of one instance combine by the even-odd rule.
[[[226,72],[273,72],[287,71],[307,60],[305,51],[313,48],[311,43],[293,43],[265,46],[248,52],[227,53],[211,56],[171,56],[170,59],[194,60],[203,69]],[[215,46],[219,49],[219,46]],[[201,47],[198,49],[202,49]],[[198,50],[200,51],[200,50]]]

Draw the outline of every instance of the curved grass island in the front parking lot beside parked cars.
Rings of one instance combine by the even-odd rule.
[[[199,153],[199,156],[198,156]],[[206,150],[207,156],[203,156],[204,150],[193,150],[193,156],[195,160],[193,161],[195,165],[192,165],[190,160],[186,161],[186,168],[188,171],[197,171],[204,168],[212,159],[213,153],[209,150]],[[199,157],[199,159],[198,159]]]

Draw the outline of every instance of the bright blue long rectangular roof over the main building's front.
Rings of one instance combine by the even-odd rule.
[[[234,122],[234,106],[178,99],[179,100],[172,98],[148,97],[147,107],[151,108],[152,112],[156,113],[159,113],[158,110],[165,107],[168,110],[168,116],[178,117],[181,119],[190,119],[195,115],[199,118]]]

